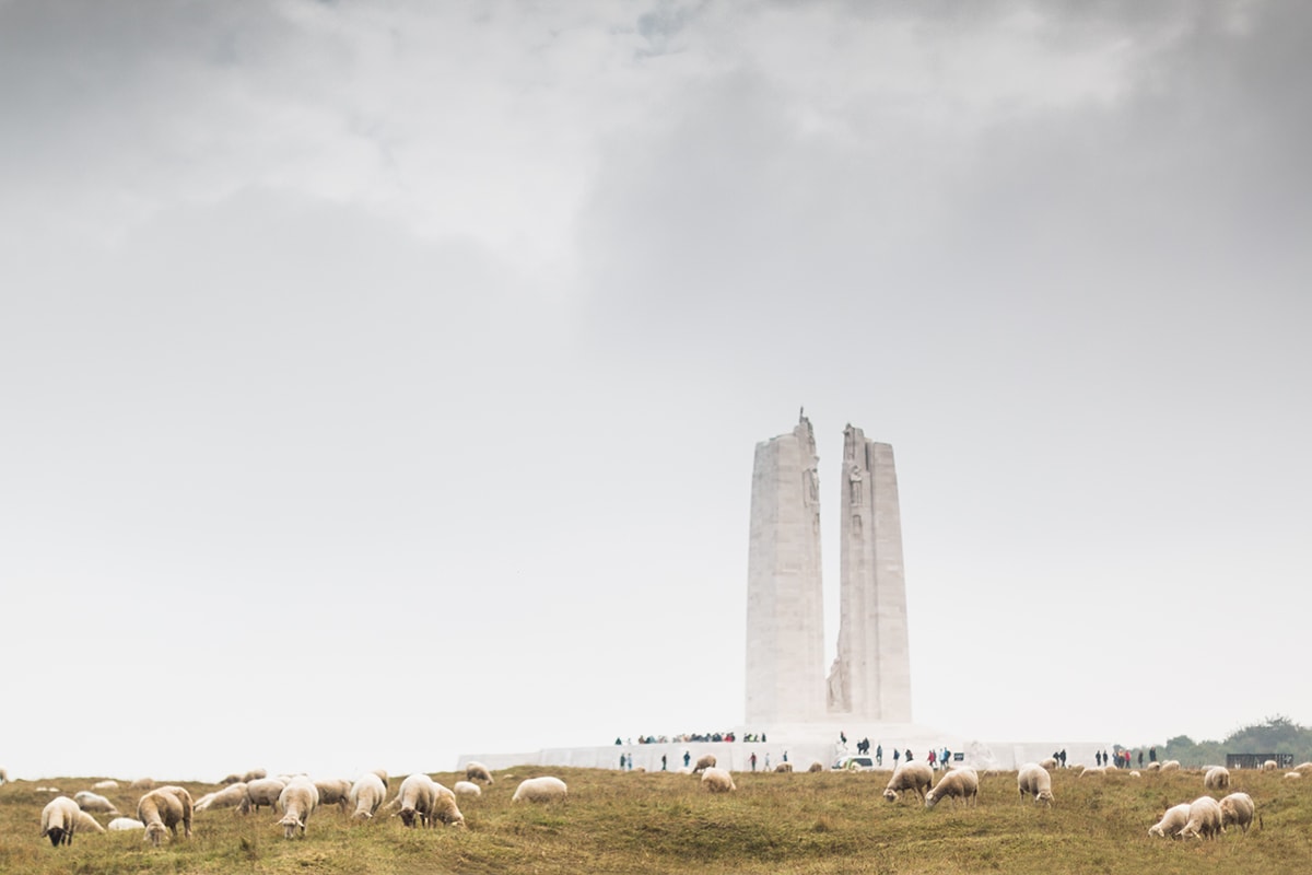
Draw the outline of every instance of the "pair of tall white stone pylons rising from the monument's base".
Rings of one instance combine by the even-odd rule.
[[[748,555],[749,728],[911,715],[907,584],[893,449],[844,429],[838,655],[824,674],[819,457],[811,421],[756,446]]]

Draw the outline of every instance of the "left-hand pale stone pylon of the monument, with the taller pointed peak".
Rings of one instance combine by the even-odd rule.
[[[811,421],[756,445],[747,585],[747,724],[825,715],[820,480]]]

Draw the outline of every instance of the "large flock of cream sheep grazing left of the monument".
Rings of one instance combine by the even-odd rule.
[[[342,813],[352,812],[354,820],[370,820],[380,811],[394,811],[405,826],[447,826],[464,828],[464,816],[457,804],[457,796],[475,798],[483,794],[479,783],[492,783],[492,773],[487,766],[471,762],[464,769],[464,781],[457,781],[453,788],[433,781],[424,773],[415,773],[401,782],[396,796],[387,799],[387,773],[367,771],[354,782],[345,779],[311,779],[308,775],[266,777],[262,769],[244,775],[228,775],[224,787],[192,799],[192,794],[178,786],[156,787],[150,778],[134,781],[131,790],[146,791],[136,803],[136,816],[123,817],[114,803],[92,790],[117,790],[118,782],[102,781],[92,790],[84,790],[68,796],[56,796],[41,812],[41,837],[50,844],[71,845],[73,836],[83,832],[104,833],[92,812],[110,815],[108,830],[140,829],[144,841],[159,846],[168,834],[177,838],[178,826],[182,836],[192,837],[192,819],[197,812],[215,808],[234,808],[240,813],[258,812],[269,807],[282,815],[278,825],[285,838],[306,834],[306,825],[316,809],[337,805]],[[41,790],[38,787],[38,790]],[[520,782],[512,802],[554,802],[564,799],[567,787],[554,777],[527,778]]]

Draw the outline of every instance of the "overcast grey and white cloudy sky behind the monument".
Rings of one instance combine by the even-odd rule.
[[[895,447],[917,722],[1312,723],[1309,39],[0,0],[0,765],[739,725],[753,449],[803,405],[830,641],[842,428]]]

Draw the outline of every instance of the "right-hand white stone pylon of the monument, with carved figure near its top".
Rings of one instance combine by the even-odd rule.
[[[838,656],[828,710],[858,720],[911,723],[911,649],[901,510],[893,449],[842,432]]]

